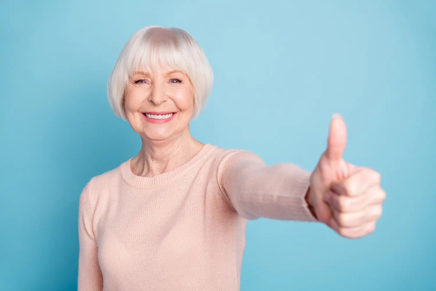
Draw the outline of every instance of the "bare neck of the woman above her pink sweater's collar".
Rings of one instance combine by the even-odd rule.
[[[141,137],[140,152],[130,163],[133,174],[153,177],[171,171],[191,160],[204,146],[189,131],[171,140],[150,140]]]

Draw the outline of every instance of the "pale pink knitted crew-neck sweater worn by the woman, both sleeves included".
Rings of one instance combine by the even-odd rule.
[[[80,195],[78,290],[237,291],[247,219],[315,221],[309,177],[211,144],[154,177],[129,159]]]

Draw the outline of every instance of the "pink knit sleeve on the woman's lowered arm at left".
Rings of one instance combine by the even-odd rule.
[[[97,243],[92,229],[92,209],[89,204],[89,183],[79,199],[79,263],[78,291],[102,291],[103,275],[98,260]]]

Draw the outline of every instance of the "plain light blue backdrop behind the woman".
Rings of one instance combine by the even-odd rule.
[[[370,236],[259,219],[242,290],[436,290],[436,1],[8,1],[0,4],[0,290],[76,290],[78,198],[136,155],[106,81],[141,27],[180,27],[215,73],[202,142],[312,170],[330,117],[388,198]],[[433,149],[433,150],[432,150]]]

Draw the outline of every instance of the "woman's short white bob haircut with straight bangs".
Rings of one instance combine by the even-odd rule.
[[[158,65],[185,72],[194,89],[195,119],[212,89],[213,72],[197,41],[180,28],[150,25],[136,31],[124,45],[109,76],[108,99],[116,116],[126,120],[124,90],[136,72]]]

